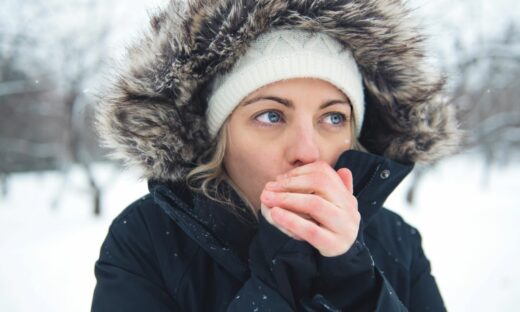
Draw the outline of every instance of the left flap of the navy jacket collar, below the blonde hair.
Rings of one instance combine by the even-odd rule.
[[[249,277],[246,259],[256,222],[238,195],[231,193],[239,207],[235,215],[184,183],[149,180],[148,189],[162,210],[217,263],[242,282]]]

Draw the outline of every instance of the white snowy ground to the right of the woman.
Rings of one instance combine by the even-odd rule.
[[[423,181],[416,207],[402,187],[387,205],[417,226],[451,311],[516,311],[520,294],[520,166],[485,168],[472,155],[442,164]]]

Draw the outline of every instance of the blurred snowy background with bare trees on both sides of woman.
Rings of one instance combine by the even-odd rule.
[[[166,0],[0,4],[0,310],[89,311],[112,219],[147,193],[92,130],[96,94]],[[386,206],[416,226],[449,311],[517,311],[520,3],[409,0],[467,139]]]

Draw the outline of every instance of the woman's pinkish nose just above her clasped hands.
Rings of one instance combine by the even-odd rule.
[[[317,135],[312,123],[300,123],[289,131],[286,157],[291,167],[303,166],[320,159]]]

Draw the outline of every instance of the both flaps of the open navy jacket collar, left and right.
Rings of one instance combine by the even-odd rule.
[[[413,165],[399,164],[388,158],[359,151],[346,151],[338,159],[335,169],[347,167],[352,171],[354,195],[363,223],[367,225],[399,183],[413,169]],[[237,214],[229,207],[192,193],[180,182],[148,182],[155,202],[196,241],[215,261],[239,280],[249,276],[248,246],[257,228],[255,218],[245,203],[232,191]]]

